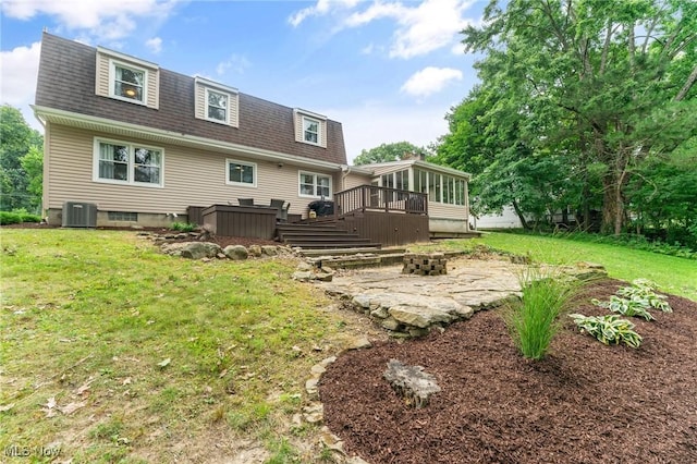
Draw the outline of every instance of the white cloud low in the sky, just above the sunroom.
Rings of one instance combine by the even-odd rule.
[[[406,141],[416,146],[428,146],[448,133],[448,122],[444,119],[447,111],[448,108],[398,108],[377,102],[321,110],[323,114],[342,123],[348,163],[360,155],[360,150],[375,148],[380,144]]]

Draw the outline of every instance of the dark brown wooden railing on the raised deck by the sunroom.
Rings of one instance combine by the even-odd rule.
[[[428,215],[428,195],[377,185],[359,185],[334,194],[337,217],[355,211]]]

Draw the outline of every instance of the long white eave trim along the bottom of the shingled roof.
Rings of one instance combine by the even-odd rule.
[[[309,159],[296,155],[286,155],[280,151],[271,151],[264,148],[248,147],[229,142],[215,141],[212,138],[199,137],[196,135],[187,135],[172,131],[163,131],[161,129],[146,127],[138,124],[114,121],[106,118],[98,118],[87,114],[74,113],[71,111],[57,110],[53,108],[38,107],[32,105],[36,118],[44,121],[56,122],[76,127],[90,129],[94,131],[107,133],[123,133],[126,137],[156,139],[158,143],[167,143],[174,145],[186,145],[196,148],[206,148],[212,150],[244,154],[258,159],[268,161],[283,161],[289,164],[307,167],[307,168],[325,168],[332,171],[341,171],[342,166],[335,162],[322,161],[318,159]],[[54,121],[51,121],[53,119]]]

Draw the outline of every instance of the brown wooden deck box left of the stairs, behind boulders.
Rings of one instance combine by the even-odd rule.
[[[213,205],[201,211],[204,225],[216,235],[273,240],[277,209]]]

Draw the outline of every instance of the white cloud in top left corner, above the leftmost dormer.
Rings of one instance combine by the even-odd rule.
[[[81,32],[83,40],[118,40],[136,30],[139,19],[163,21],[178,3],[181,4],[178,0],[3,0],[2,13],[19,20],[39,14],[56,16],[60,28]]]

